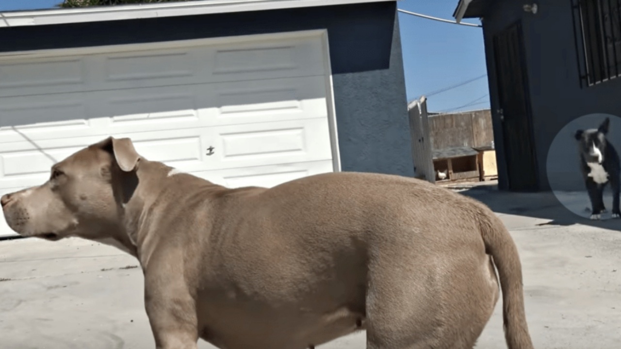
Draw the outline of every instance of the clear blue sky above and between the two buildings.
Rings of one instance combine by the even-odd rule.
[[[0,0],[0,11],[45,9],[62,0]],[[402,0],[400,9],[453,19],[458,0]],[[479,24],[478,19],[464,22]],[[420,97],[474,79],[471,83],[433,94],[429,111],[489,108],[483,33],[467,27],[399,12],[407,99]]]

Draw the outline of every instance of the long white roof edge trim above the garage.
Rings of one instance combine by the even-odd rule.
[[[0,12],[0,27],[192,16],[400,0],[197,0],[122,6]]]

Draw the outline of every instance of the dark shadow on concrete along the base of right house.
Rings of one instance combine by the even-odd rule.
[[[461,188],[461,189],[460,189]],[[621,219],[610,218],[609,212],[602,215],[601,220],[589,219],[590,212],[586,211],[589,202],[586,194],[581,193],[515,193],[499,191],[496,184],[453,187],[453,190],[465,196],[473,197],[498,214],[521,215],[548,220],[537,225],[589,225],[603,229],[621,231]],[[561,201],[563,202],[561,204]]]

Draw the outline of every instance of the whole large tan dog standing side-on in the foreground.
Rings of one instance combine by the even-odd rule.
[[[25,237],[137,257],[160,349],[303,349],[362,329],[369,349],[471,349],[499,298],[494,263],[507,345],[533,348],[509,232],[425,181],[345,172],[227,189],[107,138],[1,203]]]

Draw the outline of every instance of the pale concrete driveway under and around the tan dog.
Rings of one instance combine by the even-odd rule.
[[[535,348],[619,349],[621,220],[584,220],[550,193],[463,194],[491,206],[517,242]],[[0,242],[0,347],[153,349],[137,266],[85,240]],[[365,348],[365,336],[320,348]],[[501,302],[477,348],[506,348]]]

